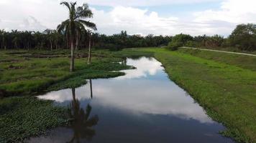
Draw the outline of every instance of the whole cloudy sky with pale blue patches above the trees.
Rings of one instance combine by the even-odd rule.
[[[73,0],[70,0],[73,1]],[[77,0],[88,3],[101,34],[221,34],[256,23],[255,0]],[[0,0],[0,29],[55,29],[68,17],[60,0]]]

